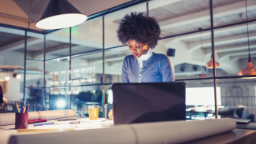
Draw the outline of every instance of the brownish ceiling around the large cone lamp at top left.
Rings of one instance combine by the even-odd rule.
[[[112,8],[114,6],[121,5],[131,0],[68,0],[76,9],[81,13],[90,16],[91,14],[98,13],[102,10]],[[35,28],[35,23],[40,19],[44,9],[50,0],[0,0],[0,23],[19,26],[23,28]],[[11,17],[16,17],[20,21],[8,20],[3,17],[7,14]],[[2,18],[2,20],[1,20]],[[3,19],[5,18],[5,19]],[[26,20],[32,20],[32,23],[28,26]],[[17,22],[19,24],[17,24]]]

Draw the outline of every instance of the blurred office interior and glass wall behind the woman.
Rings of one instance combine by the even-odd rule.
[[[153,52],[168,54],[176,81],[187,83],[187,105],[214,110],[217,99],[227,109],[245,107],[243,118],[256,114],[256,76],[238,76],[248,63],[248,42],[256,65],[254,0],[247,6],[244,0],[114,1],[114,9],[84,13],[89,18],[83,24],[53,31],[35,27],[48,2],[0,0],[0,84],[8,101],[1,113],[12,113],[18,102],[30,111],[74,109],[80,116],[87,116],[87,105],[100,105],[103,116],[131,54],[117,39],[118,24],[126,13],[143,12],[161,26]],[[82,13],[88,8],[69,2]],[[212,52],[216,69],[206,65]]]

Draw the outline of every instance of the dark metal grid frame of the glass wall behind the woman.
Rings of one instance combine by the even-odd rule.
[[[66,88],[69,87],[69,90],[71,90],[71,87],[86,87],[86,86],[102,86],[103,92],[102,92],[102,108],[104,108],[105,105],[105,86],[106,85],[111,85],[113,83],[106,83],[105,81],[105,51],[106,50],[113,50],[113,49],[118,49],[120,47],[123,46],[113,46],[110,48],[106,48],[105,49],[105,25],[104,25],[104,20],[107,14],[109,13],[113,13],[113,12],[117,12],[118,10],[121,9],[125,9],[131,6],[135,6],[138,4],[141,4],[143,2],[147,2],[146,6],[147,6],[147,16],[149,16],[149,1],[148,0],[134,0],[131,2],[126,2],[120,6],[115,6],[113,8],[110,9],[106,9],[102,12],[98,12],[95,14],[92,14],[91,16],[88,17],[87,20],[93,20],[95,18],[98,17],[102,17],[102,50],[94,50],[94,51],[89,51],[89,52],[85,52],[82,54],[74,54],[72,55],[72,46],[71,46],[71,39],[72,39],[72,35],[71,35],[71,31],[72,28],[69,28],[69,80],[71,80],[71,61],[72,61],[72,57],[80,57],[83,55],[87,55],[87,54],[95,54],[95,53],[99,53],[102,52],[102,83],[95,83],[95,84],[86,84],[86,85],[76,85],[76,86],[72,86],[69,83],[69,86],[61,86],[61,87],[46,87],[45,85],[45,73],[43,73],[43,87],[40,87],[43,89],[43,91],[46,88]],[[228,28],[228,27],[232,27],[232,26],[236,26],[236,25],[240,25],[240,24],[247,24],[247,23],[253,23],[256,22],[256,19],[254,20],[245,20],[242,22],[238,22],[238,23],[233,23],[233,24],[225,24],[225,25],[221,25],[221,26],[217,26],[214,27],[213,26],[213,0],[209,0],[209,5],[210,5],[210,28],[206,28],[206,29],[202,29],[202,31],[211,31],[211,42],[212,42],[212,53],[213,53],[213,61],[215,61],[215,50],[214,50],[214,30],[215,29],[220,29],[220,28]],[[46,60],[46,35],[54,32],[54,31],[59,31],[59,30],[50,30],[50,31],[36,31],[36,30],[32,30],[32,29],[28,29],[28,28],[20,28],[20,27],[16,27],[16,26],[10,26],[7,24],[0,24],[0,26],[2,27],[6,27],[6,28],[14,28],[14,29],[19,29],[19,30],[24,30],[25,31],[25,44],[24,44],[24,105],[25,105],[25,88],[29,88],[29,87],[25,87],[25,81],[26,81],[26,61],[43,61],[44,62],[44,68],[43,71],[45,72],[45,63],[46,61],[56,61],[57,59],[63,59],[63,58],[67,58],[67,57],[58,57],[58,58],[53,58],[53,59],[48,59]],[[43,60],[33,60],[33,59],[27,59],[27,32],[31,31],[31,32],[35,32],[35,33],[39,33],[39,34],[43,34],[44,35],[44,59]],[[165,36],[162,39],[171,39],[171,38],[175,38],[178,36],[182,36],[182,35],[190,35],[190,34],[196,34],[198,32],[202,32],[202,31],[189,31],[189,32],[185,32],[185,33],[181,33],[181,34],[177,34],[177,35],[169,35],[169,36]],[[216,88],[217,88],[217,79],[239,79],[239,78],[245,78],[245,77],[256,77],[255,76],[216,76],[216,66],[215,63],[213,62],[213,77],[207,77],[207,78],[192,78],[192,79],[176,79],[176,81],[192,81],[192,80],[206,80],[206,79],[213,79],[213,87],[214,87],[214,100],[215,100],[215,109],[216,109],[216,113],[215,116],[217,117],[217,94],[216,94]],[[33,88],[39,88],[39,87],[33,87]],[[43,94],[44,97],[45,93]],[[70,106],[70,100],[69,100],[69,106]],[[43,105],[44,107],[44,105]],[[103,111],[103,116],[104,116],[104,111]]]

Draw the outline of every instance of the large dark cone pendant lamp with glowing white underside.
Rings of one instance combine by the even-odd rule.
[[[87,20],[68,0],[50,0],[40,20],[35,24],[40,29],[69,28]]]

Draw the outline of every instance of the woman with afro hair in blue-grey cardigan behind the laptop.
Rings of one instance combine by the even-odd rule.
[[[157,20],[143,13],[131,13],[121,20],[117,37],[127,44],[132,55],[124,57],[122,83],[173,82],[173,71],[165,54],[151,52],[158,44],[161,30]],[[113,119],[113,111],[109,112]]]

